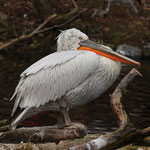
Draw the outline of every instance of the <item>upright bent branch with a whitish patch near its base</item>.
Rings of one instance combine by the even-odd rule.
[[[111,105],[119,119],[119,129],[101,135],[99,138],[92,140],[86,144],[71,147],[69,150],[97,150],[97,149],[107,149],[108,146],[120,140],[121,138],[128,135],[130,132],[135,131],[132,123],[130,123],[129,118],[121,104],[122,92],[127,88],[128,84],[135,78],[136,75],[141,74],[136,70],[132,69],[119,83],[113,94],[111,95]],[[150,131],[149,131],[150,132]],[[114,144],[117,145],[117,144]],[[107,147],[106,147],[107,146]],[[118,145],[117,145],[118,146]],[[105,147],[105,148],[104,148]],[[118,148],[118,147],[117,147]]]

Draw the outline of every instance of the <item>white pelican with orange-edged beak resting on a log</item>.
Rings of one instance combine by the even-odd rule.
[[[27,68],[11,100],[11,128],[36,113],[57,112],[58,125],[72,124],[68,111],[104,93],[117,79],[120,62],[140,65],[110,47],[90,41],[76,28],[62,31],[57,52]]]

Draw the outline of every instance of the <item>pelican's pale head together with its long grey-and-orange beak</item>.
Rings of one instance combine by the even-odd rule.
[[[62,31],[58,35],[57,51],[67,50],[92,51],[98,55],[107,57],[115,61],[120,61],[128,64],[136,64],[140,66],[139,62],[116,53],[115,51],[111,50],[110,47],[90,41],[86,34],[76,28]]]

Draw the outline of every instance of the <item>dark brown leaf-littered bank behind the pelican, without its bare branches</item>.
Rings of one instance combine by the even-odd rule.
[[[122,3],[112,3],[110,11],[103,18],[93,13],[103,9],[104,0],[76,0],[79,8],[88,11],[61,28],[49,30],[30,39],[18,42],[3,50],[4,57],[12,58],[29,51],[36,51],[38,58],[56,51],[56,37],[59,30],[76,27],[85,32],[92,40],[116,48],[126,43],[143,48],[150,41],[150,1],[143,0],[143,5],[135,3],[139,10],[136,14]],[[1,0],[0,2],[0,45],[31,33],[48,15],[58,16],[72,11],[72,0]],[[54,23],[46,25],[53,26]],[[6,54],[7,53],[7,54]],[[20,53],[20,54],[19,54]],[[6,54],[6,55],[5,55]],[[15,55],[14,55],[15,54]],[[2,58],[2,57],[1,57]]]

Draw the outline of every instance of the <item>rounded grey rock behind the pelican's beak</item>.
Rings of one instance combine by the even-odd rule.
[[[139,60],[141,58],[141,50],[138,47],[127,44],[119,45],[116,52],[135,60]]]

